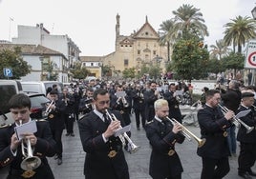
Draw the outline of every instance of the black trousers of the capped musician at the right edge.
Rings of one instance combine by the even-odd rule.
[[[254,166],[256,159],[256,144],[255,143],[240,143],[240,153],[238,156],[238,171],[250,171]]]

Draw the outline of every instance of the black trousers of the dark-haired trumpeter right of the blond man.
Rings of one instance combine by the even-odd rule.
[[[221,179],[230,170],[228,157],[223,157],[221,159],[202,157],[202,160],[203,170],[201,179]]]

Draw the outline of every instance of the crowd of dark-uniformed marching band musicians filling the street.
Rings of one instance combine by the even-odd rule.
[[[24,133],[22,140],[18,140],[15,127],[33,120],[30,99],[25,94],[11,98],[9,105],[15,122],[0,129],[0,165],[11,164],[9,179],[54,178],[46,157],[54,157],[58,165],[64,162],[62,133],[66,130],[66,137],[74,137],[75,121],[86,152],[85,178],[130,178],[124,152],[133,153],[139,147],[132,142],[133,133],[124,129],[131,124],[133,113],[137,129],[144,129],[152,147],[150,176],[181,179],[183,169],[175,144],[181,144],[186,136],[176,91],[189,91],[189,86],[156,81],[127,85],[91,80],[83,87],[79,84],[64,87],[62,93],[55,88],[47,89],[46,96],[51,100],[47,106],[48,118],[36,120],[37,132]],[[228,89],[203,88],[203,108],[198,111],[198,121],[205,141],[197,150],[202,157],[202,179],[224,178],[230,169],[228,157],[236,155],[237,141],[240,142],[238,175],[245,179],[256,176],[251,169],[256,159],[256,130],[248,131],[256,125],[254,97],[254,87],[241,86],[235,80],[229,82]],[[235,115],[247,109],[247,114],[236,121],[239,124],[236,136]],[[36,160],[29,169],[21,168],[23,143],[40,159],[38,166],[34,165]]]

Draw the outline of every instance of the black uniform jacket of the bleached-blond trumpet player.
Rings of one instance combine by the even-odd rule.
[[[184,136],[181,133],[173,133],[173,125],[169,121],[166,122],[167,124],[163,125],[154,118],[145,128],[152,146],[149,174],[153,178],[176,176],[183,171],[177,152],[170,155],[170,151],[175,150],[176,142],[184,141]]]

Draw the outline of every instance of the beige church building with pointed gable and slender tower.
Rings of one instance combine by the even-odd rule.
[[[117,14],[116,50],[108,55],[98,57],[98,63],[110,67],[113,71],[119,71],[119,74],[116,73],[118,76],[121,76],[121,71],[125,69],[135,68],[136,72],[139,72],[143,66],[159,64],[162,70],[165,69],[167,48],[160,46],[160,36],[149,24],[147,17],[143,26],[131,35],[120,35],[119,31],[120,16]],[[80,57],[82,63],[90,62],[92,59],[92,57],[91,60]],[[115,75],[115,72],[112,72],[112,75]]]

